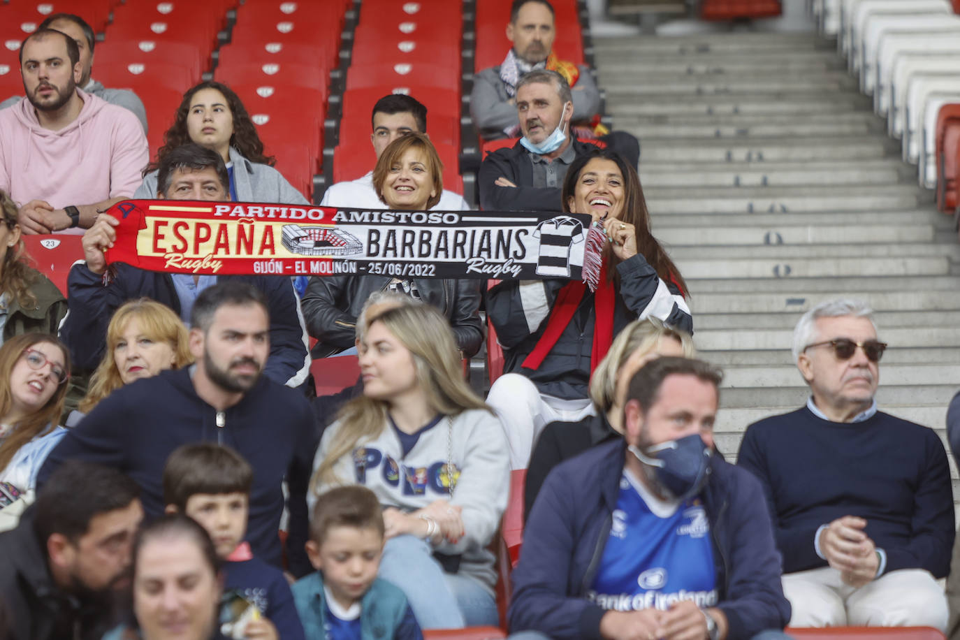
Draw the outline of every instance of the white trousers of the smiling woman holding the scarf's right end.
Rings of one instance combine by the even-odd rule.
[[[497,378],[487,395],[487,404],[503,423],[513,470],[527,468],[543,427],[556,420],[576,422],[595,413],[588,398],[565,400],[540,395],[537,385],[519,373],[505,373]]]

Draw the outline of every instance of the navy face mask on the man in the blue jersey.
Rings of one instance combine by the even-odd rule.
[[[658,484],[670,498],[684,501],[700,493],[709,477],[709,461],[713,452],[699,434],[670,440],[640,451],[628,447],[644,466],[653,470]]]

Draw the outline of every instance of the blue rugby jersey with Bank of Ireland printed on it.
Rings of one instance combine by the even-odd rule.
[[[699,498],[664,509],[625,469],[588,599],[616,611],[666,610],[683,600],[714,606],[718,594],[709,533]]]

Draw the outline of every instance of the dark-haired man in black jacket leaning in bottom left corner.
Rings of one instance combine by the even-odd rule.
[[[0,534],[0,599],[11,640],[101,638],[129,586],[143,518],[136,484],[115,469],[66,462],[11,532]]]

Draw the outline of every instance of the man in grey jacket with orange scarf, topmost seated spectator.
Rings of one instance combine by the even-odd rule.
[[[546,0],[515,0],[507,24],[507,39],[514,46],[506,59],[498,65],[484,69],[473,80],[470,93],[470,115],[480,135],[485,140],[513,138],[519,135],[520,123],[516,118],[516,83],[523,74],[534,69],[557,71],[572,89],[573,110],[583,132],[593,137],[606,132],[591,123],[600,110],[600,91],[590,70],[572,62],[558,59],[553,53],[554,29],[553,7]]]

